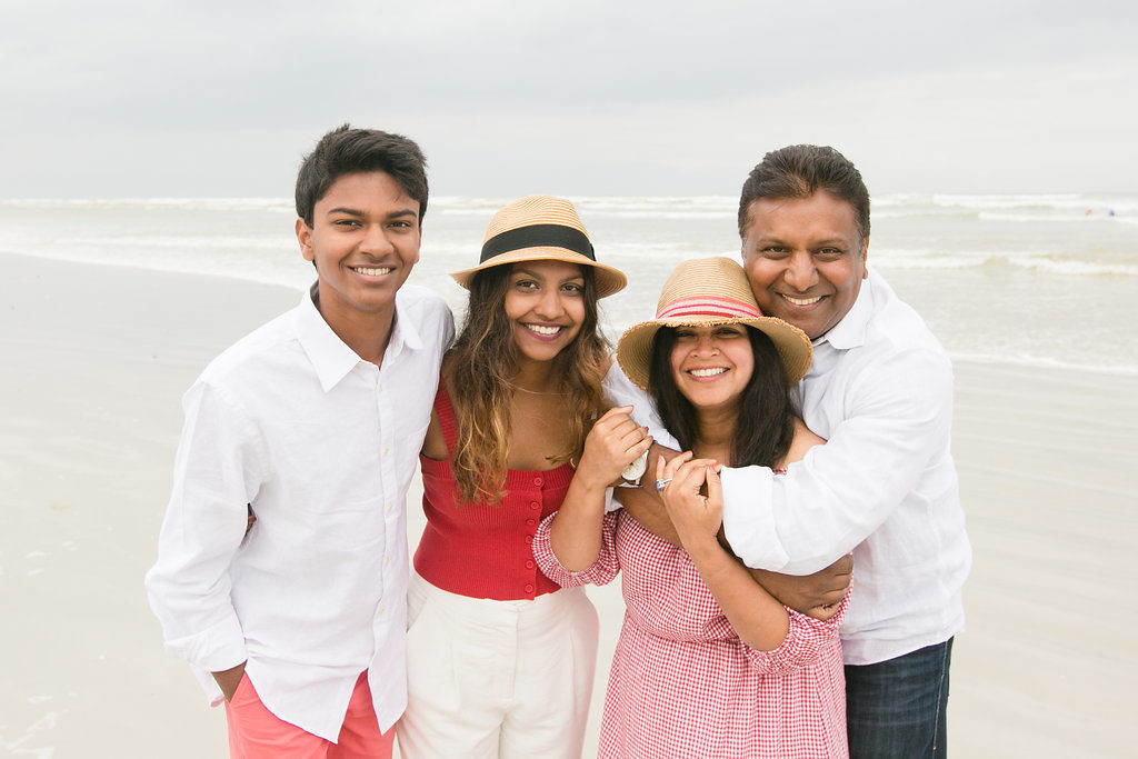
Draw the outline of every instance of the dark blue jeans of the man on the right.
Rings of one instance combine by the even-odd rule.
[[[846,666],[850,759],[948,756],[953,638],[876,665]]]

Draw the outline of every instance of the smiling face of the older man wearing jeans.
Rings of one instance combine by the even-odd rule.
[[[748,209],[743,269],[762,313],[813,340],[853,307],[868,245],[853,206],[828,192],[760,198]]]

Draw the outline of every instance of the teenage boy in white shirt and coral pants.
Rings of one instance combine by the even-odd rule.
[[[147,591],[166,649],[224,699],[231,756],[390,757],[406,703],[405,498],[454,333],[442,298],[404,286],[422,152],[333,130],[300,167],[296,206],[318,281],[185,394]]]

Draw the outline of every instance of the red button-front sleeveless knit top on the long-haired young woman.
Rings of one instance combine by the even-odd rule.
[[[435,396],[446,439],[454,451],[457,422],[439,382]],[[506,470],[505,498],[488,505],[455,503],[450,461],[420,455],[427,528],[415,550],[415,571],[435,587],[472,599],[518,601],[561,589],[534,562],[534,533],[542,519],[561,508],[574,468]]]

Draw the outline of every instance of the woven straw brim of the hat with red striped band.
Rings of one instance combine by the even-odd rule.
[[[717,324],[747,324],[770,338],[782,358],[787,385],[797,385],[810,368],[814,348],[806,332],[774,316],[754,319],[671,317],[653,319],[625,330],[617,344],[617,363],[625,376],[643,390],[648,389],[649,366],[652,363],[652,339],[661,327],[711,327]]]

